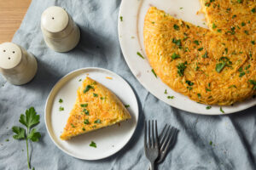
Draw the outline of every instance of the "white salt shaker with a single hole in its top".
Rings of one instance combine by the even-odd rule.
[[[67,52],[79,43],[79,27],[61,7],[52,6],[44,10],[41,30],[48,47],[57,52]]]

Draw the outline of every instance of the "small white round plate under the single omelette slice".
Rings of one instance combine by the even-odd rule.
[[[130,105],[128,111],[131,120],[85,133],[67,141],[61,140],[61,132],[76,101],[77,89],[87,76],[110,89],[124,105]],[[59,99],[63,99],[63,102],[59,103]],[[64,111],[59,111],[60,106]],[[44,119],[49,136],[58,148],[79,159],[98,160],[112,156],[131,139],[137,127],[137,98],[130,85],[112,71],[101,68],[79,69],[62,77],[52,88],[46,101]],[[91,141],[96,143],[96,148],[90,147]]]

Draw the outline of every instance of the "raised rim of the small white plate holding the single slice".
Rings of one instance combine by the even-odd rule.
[[[51,98],[52,96],[52,93],[55,91],[55,88],[57,88],[58,84],[61,83],[63,80],[65,80],[67,77],[70,77],[72,74],[74,74],[75,72],[78,72],[78,71],[86,71],[86,70],[100,70],[100,71],[106,71],[106,72],[110,72],[112,73],[113,75],[115,75],[116,77],[119,77],[121,78],[121,80],[123,80],[129,88],[131,88],[131,85],[125,81],[125,79],[121,76],[119,76],[117,73],[113,72],[113,71],[109,71],[108,69],[104,69],[104,68],[100,68],[100,67],[84,67],[84,68],[79,68],[79,69],[76,69],[74,71],[71,71],[69,73],[67,73],[65,76],[61,77],[57,82],[55,82],[55,85],[53,86],[53,88],[51,88],[49,94],[48,94],[48,97],[46,99],[46,102],[45,102],[45,105],[44,105],[44,124],[45,124],[45,127],[46,127],[46,130],[47,130],[47,133],[49,134],[49,138],[52,140],[52,142],[55,144],[55,146],[57,146],[58,149],[60,149],[61,151],[63,151],[64,153],[66,153],[68,156],[73,156],[75,158],[78,158],[80,160],[86,160],[86,161],[96,161],[96,160],[102,160],[102,159],[106,159],[108,158],[109,156],[113,156],[114,154],[118,153],[120,150],[122,150],[132,139],[132,137],[134,136],[136,130],[137,130],[137,124],[138,124],[138,121],[139,121],[139,106],[138,106],[138,102],[137,102],[137,96],[134,92],[134,90],[131,88],[131,91],[133,92],[133,95],[134,95],[134,98],[135,98],[135,102],[136,102],[136,111],[134,111],[134,114],[136,115],[135,116],[135,120],[136,120],[136,125],[133,129],[133,132],[131,133],[131,136],[129,137],[129,139],[127,139],[125,141],[125,143],[123,144],[123,146],[121,146],[119,148],[119,150],[116,150],[114,151],[113,153],[111,153],[110,155],[108,156],[100,156],[99,158],[96,158],[96,159],[88,159],[88,158],[84,158],[82,156],[75,156],[73,153],[71,152],[68,152],[67,150],[64,150],[63,148],[61,148],[61,146],[59,144],[57,144],[55,142],[55,139],[52,137],[51,133],[49,133],[49,127],[48,127],[48,123],[49,121],[47,121],[47,115],[49,115],[49,113],[47,114],[47,108],[48,108],[48,105],[49,105],[49,99]],[[68,81],[67,81],[68,82]],[[63,86],[63,85],[62,85]]]

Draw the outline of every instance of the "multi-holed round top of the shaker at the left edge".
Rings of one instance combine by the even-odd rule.
[[[0,68],[12,69],[20,64],[22,52],[20,47],[12,42],[0,44]]]

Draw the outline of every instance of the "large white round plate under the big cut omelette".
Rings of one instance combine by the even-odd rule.
[[[207,105],[201,105],[189,99],[183,94],[178,94],[171,88],[161,82],[160,78],[155,78],[152,68],[148,63],[148,59],[143,47],[143,22],[145,14],[150,6],[155,6],[166,11],[172,16],[189,21],[195,26],[207,28],[204,23],[204,14],[196,14],[201,9],[199,0],[127,0],[122,1],[119,9],[119,42],[122,52],[125,56],[127,65],[131,72],[137,77],[151,94],[158,99],[166,102],[183,111],[189,111],[196,114],[204,115],[221,115],[218,105],[212,105],[207,110]],[[143,54],[145,59],[137,55],[137,52]],[[167,89],[167,94],[164,94]],[[174,99],[167,99],[167,96],[174,96]],[[247,101],[238,103],[233,106],[223,106],[224,113],[233,113],[242,111],[256,105],[256,99],[248,99]]]

